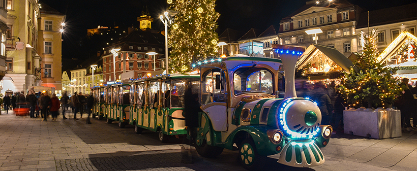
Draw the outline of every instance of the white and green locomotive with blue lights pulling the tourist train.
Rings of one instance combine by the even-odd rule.
[[[268,155],[279,163],[310,167],[324,162],[320,148],[333,131],[320,125],[317,104],[295,95],[294,71],[302,47],[274,45],[281,59],[232,56],[192,64],[200,70],[199,127],[188,130],[203,157],[223,149],[239,151],[241,164],[259,169]],[[281,61],[282,60],[282,61]],[[285,95],[279,98],[279,69],[285,73]],[[283,80],[280,80],[283,81]],[[191,133],[196,132],[196,133]]]

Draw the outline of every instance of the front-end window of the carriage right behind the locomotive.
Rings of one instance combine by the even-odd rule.
[[[171,81],[171,107],[172,108],[183,108],[184,107],[184,91],[185,82],[182,80]]]

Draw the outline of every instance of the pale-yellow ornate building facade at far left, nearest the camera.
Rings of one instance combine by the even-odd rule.
[[[39,85],[35,76],[35,67],[38,68],[42,60],[37,51],[38,0],[8,1],[7,10],[7,71],[3,90],[27,91],[31,86]]]

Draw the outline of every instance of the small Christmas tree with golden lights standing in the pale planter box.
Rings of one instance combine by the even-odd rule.
[[[394,99],[401,93],[399,78],[392,77],[398,68],[385,67],[386,63],[377,59],[375,33],[373,30],[369,36],[361,35],[367,44],[361,54],[355,53],[358,59],[353,62],[354,67],[341,79],[339,92],[350,107],[359,108],[365,104],[368,108],[384,107],[394,104]]]

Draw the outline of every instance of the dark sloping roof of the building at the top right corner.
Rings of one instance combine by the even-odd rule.
[[[403,21],[417,20],[417,3],[384,8],[369,12],[369,26],[391,24]],[[368,12],[363,12],[359,16],[356,28],[368,27]]]

